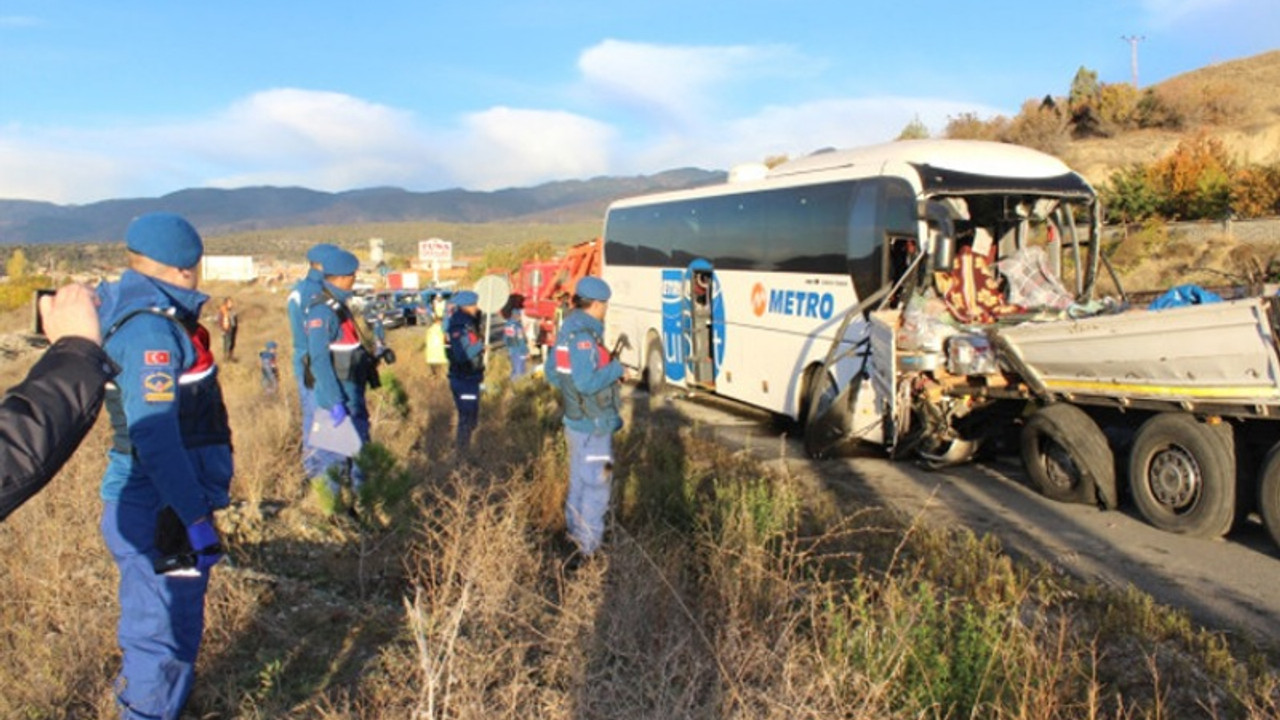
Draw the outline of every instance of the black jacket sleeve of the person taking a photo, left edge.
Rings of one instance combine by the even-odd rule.
[[[88,434],[115,365],[96,343],[59,340],[0,404],[0,520],[40,492]]]

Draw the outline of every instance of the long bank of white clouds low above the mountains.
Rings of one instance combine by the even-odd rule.
[[[783,61],[787,54],[605,41],[584,53],[584,82],[645,110],[623,113],[617,124],[602,119],[617,106],[602,104],[591,115],[494,106],[429,124],[351,95],[275,88],[201,118],[0,127],[0,197],[88,202],[259,184],[495,190],[689,165],[727,169],[768,155],[883,142],[915,117],[941,131],[950,115],[997,111],[914,97],[731,105],[735,83],[753,81],[746,97],[768,96],[755,83],[771,72],[777,79],[813,69],[812,61]]]

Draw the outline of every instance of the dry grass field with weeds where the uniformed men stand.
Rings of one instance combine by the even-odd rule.
[[[215,288],[215,292],[221,293]],[[605,553],[566,571],[554,402],[493,361],[476,442],[417,331],[390,340],[407,402],[374,437],[413,480],[364,523],[320,515],[293,401],[256,348],[283,299],[237,292],[224,368],[237,505],[192,717],[1268,717],[1268,661],[1144,596],[1015,566],[991,539],[836,507],[636,396]],[[282,363],[282,365],[288,365]],[[24,364],[3,368],[12,384]],[[292,387],[292,378],[284,378]],[[97,537],[99,427],[0,528],[0,717],[108,717],[115,571]]]

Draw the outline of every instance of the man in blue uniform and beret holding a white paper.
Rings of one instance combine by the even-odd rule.
[[[378,387],[376,356],[347,307],[360,260],[346,250],[333,250],[320,264],[324,279],[319,292],[307,300],[305,320],[307,359],[303,370],[311,380],[316,405],[312,424],[338,427],[349,416],[361,442],[369,442],[365,388]],[[316,477],[326,477],[329,468],[337,468],[339,475],[351,478],[352,489],[360,488],[364,477],[351,457],[320,448],[312,448],[312,454],[320,465],[312,483]],[[330,491],[337,489],[330,484]]]

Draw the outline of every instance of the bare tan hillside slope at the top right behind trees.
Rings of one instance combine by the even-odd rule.
[[[1204,128],[1220,138],[1239,160],[1280,163],[1280,50],[1208,65],[1169,78],[1156,87],[1174,94],[1203,87],[1229,88],[1238,105],[1236,118],[1222,127]],[[1108,138],[1075,141],[1064,160],[1100,186],[1119,168],[1149,163],[1176,147],[1187,132],[1144,129]]]

